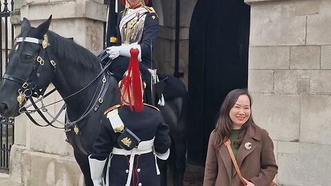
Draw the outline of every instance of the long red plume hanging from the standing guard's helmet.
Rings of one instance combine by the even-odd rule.
[[[123,89],[121,102],[123,104],[128,99],[130,109],[133,110],[133,105],[134,112],[140,112],[143,110],[143,90],[138,62],[139,50],[131,48],[130,54],[128,74],[123,78],[121,85]]]

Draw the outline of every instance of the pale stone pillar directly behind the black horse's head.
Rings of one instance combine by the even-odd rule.
[[[29,19],[32,26],[37,26],[52,14],[50,30],[62,37],[73,38],[94,54],[103,49],[103,22],[106,21],[103,0],[26,0],[15,2],[15,9],[17,11],[11,17],[15,34],[20,32],[19,23],[23,17]],[[61,96],[55,93],[44,102],[48,104],[60,99]],[[48,107],[48,112],[55,116],[62,104]],[[46,124],[38,114],[33,116],[41,125]],[[51,117],[48,116],[48,119],[51,120]],[[64,112],[59,120],[64,121]],[[63,127],[62,124],[55,125]],[[10,180],[33,186],[83,185],[83,174],[74,160],[71,145],[65,142],[64,130],[38,127],[27,116],[21,115],[15,118],[14,138],[15,144],[10,154]]]

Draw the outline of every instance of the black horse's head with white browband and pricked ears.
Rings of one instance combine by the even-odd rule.
[[[28,19],[21,23],[21,33],[8,54],[8,65],[0,82],[1,116],[19,115],[19,106],[32,94],[39,94],[52,81],[56,70],[48,52],[47,32],[50,18],[37,28]]]

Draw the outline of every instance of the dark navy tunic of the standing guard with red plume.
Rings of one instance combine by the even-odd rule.
[[[163,121],[163,117],[158,110],[144,105],[142,112],[132,112],[125,105],[119,107],[118,112],[125,127],[136,134],[141,141],[150,141],[155,137],[155,152],[163,154],[168,151],[171,145],[170,136],[168,136],[169,127]],[[114,132],[110,121],[104,116],[101,121],[99,135],[94,142],[94,151],[91,158],[103,161],[112,152],[113,147],[121,148],[116,142],[118,136],[119,133]],[[112,154],[110,167],[108,167],[110,185],[126,185],[129,159],[130,155]],[[134,156],[131,185],[139,185],[139,183],[141,185],[160,185],[153,152]]]

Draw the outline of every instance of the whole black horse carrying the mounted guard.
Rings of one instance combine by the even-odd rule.
[[[0,114],[18,116],[24,105],[19,104],[18,97],[27,99],[32,93],[42,94],[40,90],[52,83],[66,102],[67,122],[71,121],[66,125],[66,136],[85,183],[90,186],[93,184],[84,151],[92,152],[103,112],[119,103],[118,81],[110,73],[101,73],[100,60],[92,52],[48,30],[51,19],[52,16],[37,28],[31,27],[28,19],[23,19],[21,33],[8,55],[9,63],[0,82]],[[108,88],[103,91],[103,87]],[[180,96],[166,100],[160,108],[173,142],[168,161],[173,185],[183,185],[187,149],[186,102],[186,96]]]

